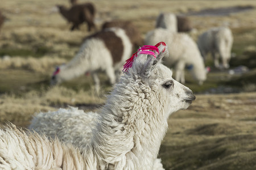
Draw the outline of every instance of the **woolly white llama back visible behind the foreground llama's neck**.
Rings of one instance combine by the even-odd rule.
[[[92,137],[98,113],[84,112],[77,108],[60,108],[55,112],[40,112],[32,119],[29,129],[65,143],[85,146]]]

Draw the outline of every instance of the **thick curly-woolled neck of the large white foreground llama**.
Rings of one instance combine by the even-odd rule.
[[[167,130],[167,117],[151,88],[125,81],[109,96],[90,145],[102,169],[150,169]]]

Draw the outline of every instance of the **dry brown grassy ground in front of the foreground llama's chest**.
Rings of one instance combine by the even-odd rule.
[[[166,169],[255,169],[256,93],[197,95],[170,116],[159,157]]]

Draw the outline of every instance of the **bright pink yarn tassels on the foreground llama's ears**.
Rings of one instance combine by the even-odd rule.
[[[158,46],[161,44],[164,45],[164,49],[163,49],[163,52],[164,52],[164,50],[166,50],[166,43],[164,42],[158,42],[158,44],[156,44],[155,46],[143,45],[142,48],[139,48],[138,51],[133,54],[133,56],[131,56],[129,59],[126,60],[125,65],[123,65],[123,72],[126,72],[131,66],[133,66],[134,57],[138,57],[138,53],[150,54],[156,58],[159,55]],[[157,53],[157,55],[155,55],[155,53]]]

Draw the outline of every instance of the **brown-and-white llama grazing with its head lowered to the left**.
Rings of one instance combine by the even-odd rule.
[[[51,84],[61,83],[86,72],[92,73],[96,91],[100,90],[99,70],[105,71],[114,84],[122,72],[122,66],[130,57],[132,44],[122,28],[104,29],[86,37],[76,56],[66,65],[57,67]]]

